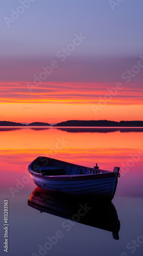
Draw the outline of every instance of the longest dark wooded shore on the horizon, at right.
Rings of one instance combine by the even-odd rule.
[[[108,121],[108,120],[69,120],[57,123],[53,126],[77,126],[77,127],[143,127],[143,121]]]

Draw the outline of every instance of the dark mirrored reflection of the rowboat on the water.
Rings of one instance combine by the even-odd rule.
[[[111,231],[113,238],[119,239],[120,221],[113,203],[107,198],[55,194],[36,187],[28,205],[40,212]]]

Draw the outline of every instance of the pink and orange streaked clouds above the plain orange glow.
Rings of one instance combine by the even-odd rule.
[[[110,105],[141,104],[141,84],[124,84],[124,88],[107,101]],[[115,83],[46,83],[39,86],[21,83],[1,84],[2,103],[96,104],[115,87]],[[29,90],[30,89],[30,90]],[[24,107],[27,108],[27,107]],[[28,107],[29,108],[29,107]]]

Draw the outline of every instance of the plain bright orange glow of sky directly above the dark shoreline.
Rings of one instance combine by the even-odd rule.
[[[142,105],[106,105],[94,113],[92,105],[74,104],[0,104],[1,121],[57,123],[67,120],[142,120]]]

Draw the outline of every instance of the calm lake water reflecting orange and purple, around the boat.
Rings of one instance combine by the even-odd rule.
[[[10,256],[143,255],[143,130],[1,127],[0,137],[1,255],[7,255],[3,248],[4,200],[8,200]],[[65,219],[47,212],[41,214],[28,205],[36,185],[27,169],[38,156],[90,167],[98,163],[101,169],[107,170],[121,167],[112,200],[121,223],[119,240],[113,239],[112,232],[95,227],[98,226],[98,214],[95,214],[94,227],[71,221],[65,227]],[[74,208],[72,204],[71,209]],[[100,206],[96,201],[94,204],[99,211]],[[99,211],[99,222],[102,214],[108,224],[107,211],[106,207]],[[55,236],[58,238],[50,240]]]

